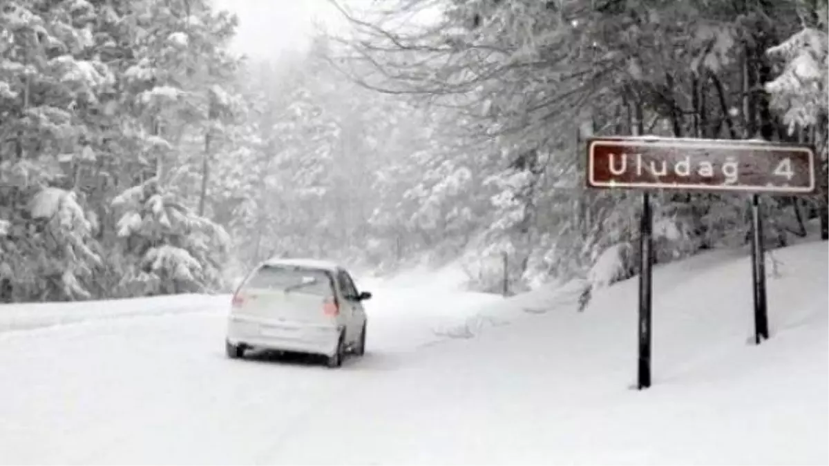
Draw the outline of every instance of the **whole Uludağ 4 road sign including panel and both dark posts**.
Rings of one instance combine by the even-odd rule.
[[[679,190],[753,194],[752,275],[754,338],[768,339],[765,259],[759,194],[812,195],[818,191],[814,150],[801,144],[756,140],[656,137],[589,138],[587,186],[645,191],[639,286],[639,389],[651,385],[652,213],[647,192]]]

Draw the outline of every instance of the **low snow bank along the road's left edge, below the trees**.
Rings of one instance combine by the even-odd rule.
[[[229,305],[229,296],[206,294],[75,303],[2,304],[0,334],[112,318],[206,312]]]

